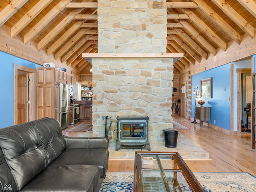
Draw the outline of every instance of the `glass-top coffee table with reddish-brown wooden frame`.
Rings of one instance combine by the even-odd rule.
[[[134,192],[205,192],[178,152],[135,152]]]

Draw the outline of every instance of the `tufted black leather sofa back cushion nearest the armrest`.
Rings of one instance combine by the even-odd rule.
[[[36,120],[33,125],[38,130],[50,164],[65,148],[60,123],[56,119],[45,117]]]

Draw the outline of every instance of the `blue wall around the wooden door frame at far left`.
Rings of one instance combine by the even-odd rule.
[[[0,128],[4,128],[14,124],[14,63],[34,69],[40,65],[2,51],[0,58]]]

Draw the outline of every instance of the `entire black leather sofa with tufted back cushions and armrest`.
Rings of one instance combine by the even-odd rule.
[[[52,118],[0,129],[0,192],[96,192],[108,169],[106,138],[67,137]]]

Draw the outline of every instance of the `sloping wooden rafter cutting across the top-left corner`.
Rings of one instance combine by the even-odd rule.
[[[28,0],[12,0],[0,12],[0,26],[2,26],[8,19],[10,19]]]

